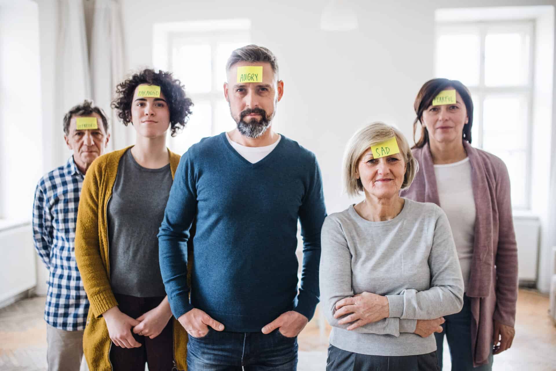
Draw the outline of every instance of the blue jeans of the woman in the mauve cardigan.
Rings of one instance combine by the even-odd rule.
[[[445,315],[446,320],[442,324],[444,331],[434,333],[436,338],[436,352],[438,353],[438,365],[442,369],[442,355],[444,334],[448,339],[452,371],[491,371],[493,363],[492,350],[489,355],[489,363],[473,368],[473,352],[471,351],[471,299],[463,295],[463,308],[456,314]]]

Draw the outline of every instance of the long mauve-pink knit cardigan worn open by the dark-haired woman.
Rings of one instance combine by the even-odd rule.
[[[471,298],[473,364],[488,363],[494,321],[514,326],[518,288],[518,251],[510,201],[510,179],[498,157],[463,142],[471,164],[475,199],[475,242],[466,291]],[[440,207],[429,145],[412,150],[419,171],[401,196]]]

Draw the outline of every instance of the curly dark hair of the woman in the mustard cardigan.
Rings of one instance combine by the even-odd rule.
[[[180,80],[173,78],[171,72],[155,72],[151,68],[146,68],[116,86],[116,98],[112,101],[112,108],[117,110],[118,117],[121,118],[123,125],[127,126],[131,122],[131,103],[135,88],[140,84],[150,84],[160,86],[160,90],[166,97],[168,109],[170,110],[170,127],[172,136],[176,136],[185,127],[191,116],[193,102],[185,96],[185,87]],[[132,123],[133,125],[133,123]]]

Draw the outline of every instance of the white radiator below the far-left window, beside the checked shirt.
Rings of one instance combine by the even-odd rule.
[[[37,284],[31,224],[0,224],[0,303]]]

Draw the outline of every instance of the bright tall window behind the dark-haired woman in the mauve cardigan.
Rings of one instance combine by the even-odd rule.
[[[473,145],[504,161],[517,209],[529,208],[533,41],[532,21],[436,27],[435,75],[471,91]]]

